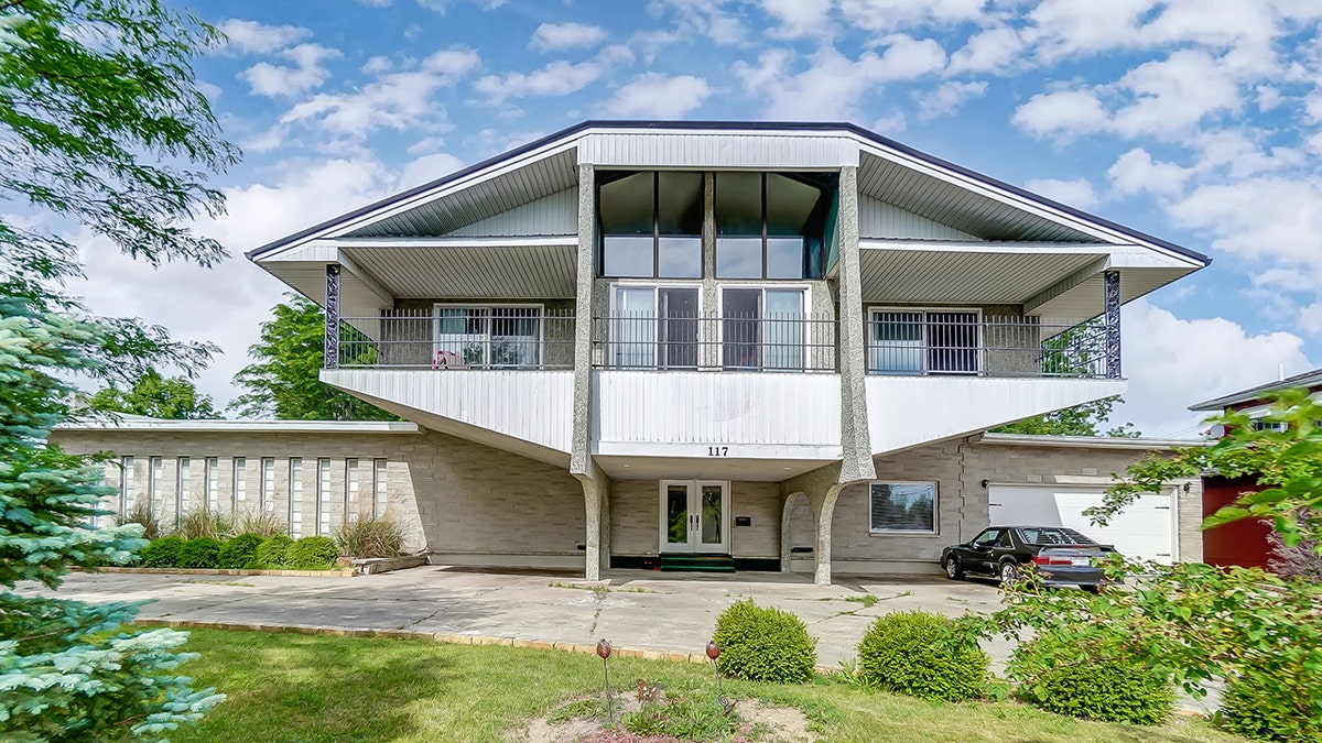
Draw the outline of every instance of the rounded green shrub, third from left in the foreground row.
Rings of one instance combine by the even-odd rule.
[[[1019,686],[1019,695],[1044,710],[1132,724],[1161,724],[1174,711],[1175,690],[1167,674],[1118,650],[1091,658],[1048,633],[1019,645],[1015,654],[1021,656],[1015,666],[1042,669]]]

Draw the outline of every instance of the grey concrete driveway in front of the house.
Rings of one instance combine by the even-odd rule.
[[[870,608],[862,603],[867,594],[879,599]],[[78,572],[56,595],[152,602],[143,607],[143,619],[407,629],[575,644],[607,637],[616,646],[681,653],[701,650],[717,615],[751,598],[802,617],[818,639],[821,665],[854,657],[873,619],[891,611],[958,616],[999,607],[994,584],[939,578],[846,575],[837,578],[836,586],[821,587],[797,574],[681,576],[616,570],[605,580],[586,582],[571,574],[440,566],[341,579]],[[1005,643],[986,649],[998,666],[1010,650]]]

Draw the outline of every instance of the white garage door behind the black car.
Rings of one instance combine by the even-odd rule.
[[[1104,545],[1114,545],[1121,554],[1134,559],[1170,565],[1179,558],[1171,494],[1142,496],[1107,526],[1093,526],[1083,512],[1101,505],[1103,490],[1060,485],[988,485],[989,516],[997,526],[1068,526]]]

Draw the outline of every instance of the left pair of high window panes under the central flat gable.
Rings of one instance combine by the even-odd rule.
[[[603,276],[702,278],[702,173],[603,173]]]

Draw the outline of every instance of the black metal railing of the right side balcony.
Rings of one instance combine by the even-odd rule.
[[[984,317],[976,312],[873,312],[867,372],[886,375],[1107,375],[1100,320]]]

